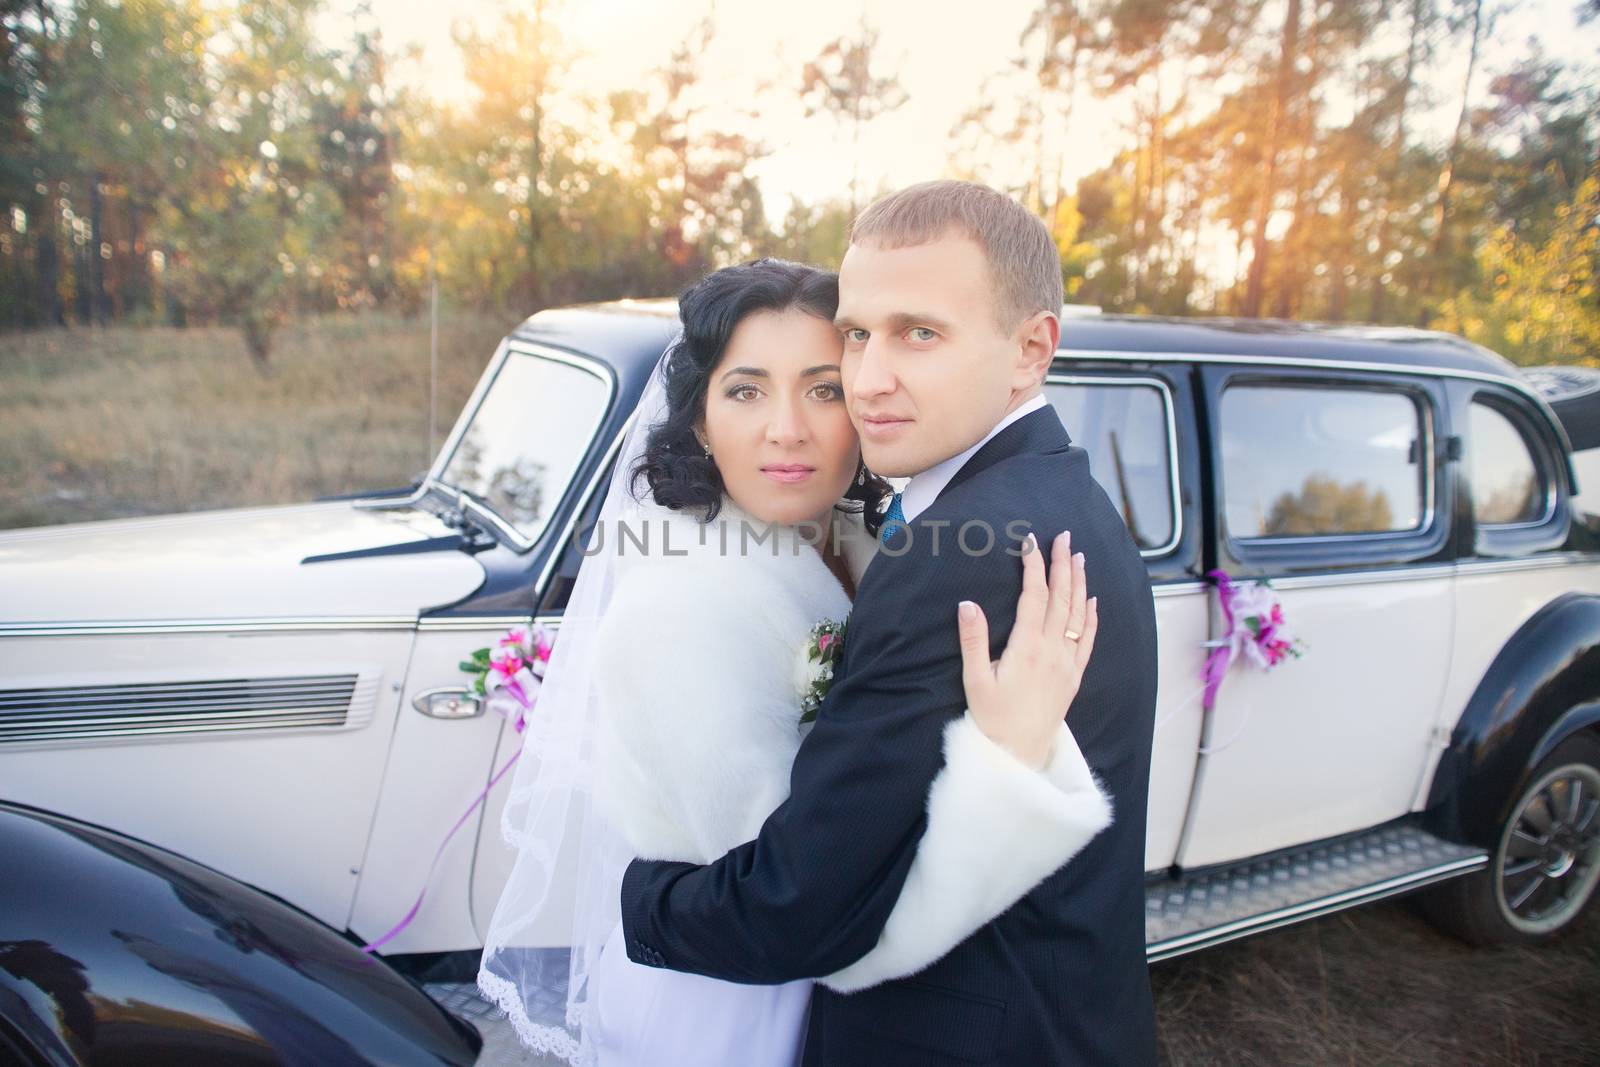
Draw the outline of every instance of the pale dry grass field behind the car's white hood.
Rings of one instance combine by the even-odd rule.
[[[512,325],[442,317],[440,437]],[[427,333],[299,322],[269,374],[235,330],[0,334],[0,530],[406,485],[432,459]]]

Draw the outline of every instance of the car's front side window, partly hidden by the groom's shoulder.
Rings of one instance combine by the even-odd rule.
[[[1088,450],[1090,474],[1117,506],[1141,550],[1171,547],[1173,454],[1166,394],[1144,382],[1053,381],[1045,398],[1074,445]]]

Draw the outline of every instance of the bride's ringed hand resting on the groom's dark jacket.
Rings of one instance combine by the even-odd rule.
[[[984,609],[963,600],[962,685],[978,728],[1027,766],[1043,768],[1061,721],[1078,694],[1099,629],[1096,598],[1085,600],[1083,555],[1072,534],[1051,545],[1050,581],[1034,534],[1022,553],[1022,593],[1016,624],[1000,659],[989,659]]]

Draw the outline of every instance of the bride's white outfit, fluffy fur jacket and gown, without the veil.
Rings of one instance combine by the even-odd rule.
[[[709,525],[653,504],[646,517],[650,550],[621,545],[616,593],[595,633],[595,795],[640,857],[706,864],[755,838],[787,797],[805,734],[802,649],[818,622],[845,619],[851,603],[794,530],[766,528],[731,502]],[[858,517],[837,522],[859,582],[874,539]],[[672,633],[659,632],[662,619]],[[1110,822],[1066,725],[1043,771],[1000,750],[970,717],[946,729],[944,755],[888,925],[866,957],[819,976],[830,989],[928,966]],[[602,1067],[792,1067],[811,985],[741,985],[637,965],[618,925],[589,974],[587,1025]]]

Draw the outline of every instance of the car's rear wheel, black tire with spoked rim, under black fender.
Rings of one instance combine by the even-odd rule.
[[[1576,792],[1576,797],[1574,797]],[[1600,883],[1600,737],[1574,734],[1528,776],[1488,867],[1418,894],[1437,926],[1474,945],[1568,933]]]

